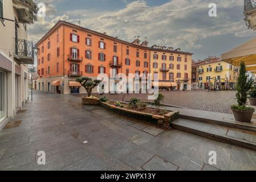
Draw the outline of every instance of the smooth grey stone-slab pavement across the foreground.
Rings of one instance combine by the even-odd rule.
[[[178,130],[154,130],[80,102],[35,92],[21,113],[0,123],[0,170],[256,170],[255,151]],[[22,122],[3,129],[9,121]],[[39,151],[46,153],[46,165],[37,163]],[[217,152],[217,165],[208,164],[210,151]]]

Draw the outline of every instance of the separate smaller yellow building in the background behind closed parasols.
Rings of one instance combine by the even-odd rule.
[[[238,68],[225,63],[219,57],[209,57],[203,61],[197,61],[193,64],[192,69],[197,71],[196,81],[197,89],[206,89],[211,80],[211,88],[215,78],[221,80],[222,86],[226,80],[229,81],[229,88],[234,89],[238,77]]]

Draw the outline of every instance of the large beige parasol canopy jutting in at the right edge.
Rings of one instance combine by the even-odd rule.
[[[254,67],[256,71],[256,37],[222,54],[221,59],[235,67],[244,62],[247,69]]]

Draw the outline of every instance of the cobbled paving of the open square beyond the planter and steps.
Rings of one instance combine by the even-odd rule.
[[[165,96],[165,104],[218,113],[232,114],[230,106],[236,103],[234,91],[205,92],[197,90],[160,93]],[[78,96],[80,97],[81,94]],[[105,96],[111,100],[123,100],[124,94],[105,94]],[[141,100],[147,100],[148,98],[147,94],[125,94],[125,100],[129,100],[132,97],[137,97]]]

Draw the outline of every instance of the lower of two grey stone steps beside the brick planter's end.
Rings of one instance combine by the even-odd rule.
[[[171,126],[173,129],[256,151],[255,132],[183,118],[173,121]]]

